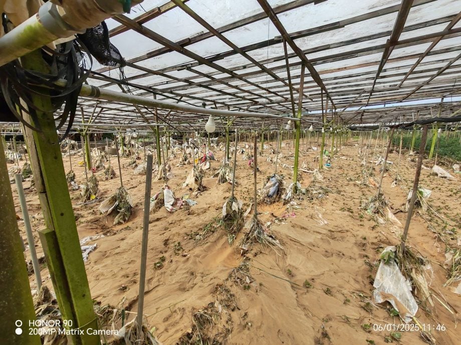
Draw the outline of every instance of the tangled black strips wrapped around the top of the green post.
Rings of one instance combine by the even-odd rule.
[[[47,72],[25,68],[16,59],[0,67],[0,86],[15,117],[36,131],[42,131],[37,121],[37,112],[53,114],[64,106],[62,113],[56,118],[59,120],[57,129],[67,122],[66,131],[61,138],[63,140],[74,122],[80,89],[91,70],[91,67],[86,68],[87,62],[91,65],[92,58],[78,38],[60,44],[55,50],[43,47],[41,52],[47,64]],[[64,79],[66,84],[56,85],[55,82],[59,79]],[[37,96],[50,97],[51,104],[39,105],[39,102],[34,102]],[[35,126],[24,118],[25,113],[32,117]]]

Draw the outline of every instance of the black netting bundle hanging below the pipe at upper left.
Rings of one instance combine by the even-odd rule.
[[[85,33],[79,33],[90,53],[105,66],[123,67],[125,59],[115,45],[109,41],[109,29],[104,21],[99,25],[89,28]]]

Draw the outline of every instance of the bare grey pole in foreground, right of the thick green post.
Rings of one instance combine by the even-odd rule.
[[[146,190],[144,192],[144,217],[142,226],[142,243],[141,243],[141,269],[139,273],[139,294],[138,294],[138,337],[141,339],[142,333],[142,310],[144,307],[144,288],[146,283],[146,265],[147,265],[147,240],[149,237],[149,204],[150,190],[152,188],[152,154],[147,156],[146,170]]]

